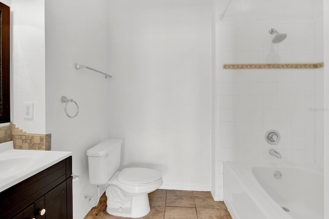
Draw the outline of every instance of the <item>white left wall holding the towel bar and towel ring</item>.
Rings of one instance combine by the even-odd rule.
[[[96,194],[89,185],[86,151],[109,137],[109,88],[112,79],[87,69],[84,64],[117,77],[108,68],[108,1],[45,2],[46,14],[46,131],[51,133],[52,150],[72,151],[74,174],[74,218],[83,218],[90,210],[84,195]],[[79,104],[79,114],[64,113],[61,96]],[[75,114],[75,105],[68,111]],[[106,168],[106,167],[103,167]],[[96,199],[96,198],[95,198]],[[90,204],[94,204],[96,201]]]

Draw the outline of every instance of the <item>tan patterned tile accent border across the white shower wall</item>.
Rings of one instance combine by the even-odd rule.
[[[323,63],[300,64],[225,64],[224,69],[315,69],[323,68]]]

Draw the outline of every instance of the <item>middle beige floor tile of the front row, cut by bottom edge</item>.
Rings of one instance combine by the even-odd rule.
[[[195,208],[166,207],[165,219],[197,219]]]

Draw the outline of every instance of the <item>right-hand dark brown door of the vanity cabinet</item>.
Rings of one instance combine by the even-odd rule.
[[[66,181],[45,195],[46,219],[67,218]]]

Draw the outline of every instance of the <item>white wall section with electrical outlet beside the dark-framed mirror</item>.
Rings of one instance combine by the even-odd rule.
[[[45,134],[44,0],[12,1],[11,16],[11,119],[24,131]],[[23,102],[34,103],[33,120],[23,118]]]

